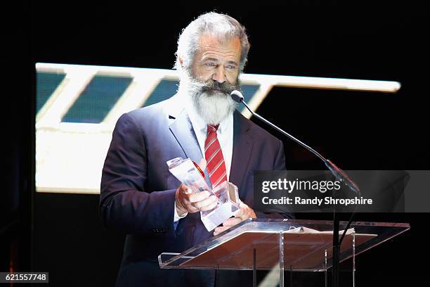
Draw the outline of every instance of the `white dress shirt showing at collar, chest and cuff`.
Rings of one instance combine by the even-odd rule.
[[[195,136],[197,136],[200,151],[202,151],[202,156],[204,158],[204,141],[206,141],[207,124],[204,123],[204,120],[202,120],[202,117],[200,117],[200,115],[197,113],[197,110],[195,110],[193,103],[191,103],[190,101],[188,101],[187,105],[185,105],[185,111],[188,113],[191,125],[193,125]],[[224,120],[219,123],[219,127],[216,130],[216,137],[218,138],[219,145],[221,146],[221,151],[223,153],[228,180],[230,178],[231,158],[233,155],[233,113],[228,115]],[[187,214],[188,213],[185,213],[185,215],[179,216],[178,212],[176,211],[175,203],[174,222],[177,222],[179,219],[185,217]]]

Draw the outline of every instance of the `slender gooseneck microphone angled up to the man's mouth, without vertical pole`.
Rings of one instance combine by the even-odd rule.
[[[265,122],[267,125],[273,127],[273,129],[276,129],[281,134],[284,134],[285,136],[289,137],[289,139],[292,139],[293,141],[297,142],[297,144],[303,146],[308,151],[311,151],[311,153],[313,153],[318,158],[320,158],[320,160],[323,160],[323,162],[325,163],[325,165],[327,166],[327,168],[330,170],[330,172],[332,172],[332,174],[334,175],[334,177],[336,177],[337,180],[339,180],[339,181],[343,182],[344,184],[346,184],[346,186],[348,186],[352,191],[355,191],[356,193],[360,194],[360,189],[358,188],[358,185],[348,177],[348,174],[346,174],[346,172],[344,172],[339,167],[337,167],[336,165],[334,165],[334,163],[331,162],[330,160],[327,160],[326,158],[324,158],[323,155],[321,155],[320,153],[318,153],[318,151],[315,151],[313,148],[311,148],[307,144],[304,144],[302,141],[299,141],[299,139],[296,139],[291,134],[288,134],[284,130],[280,129],[280,127],[277,127],[277,126],[273,125],[271,122],[269,122],[268,120],[266,120],[264,117],[261,117],[261,115],[259,115],[257,113],[254,113],[249,108],[249,106],[247,105],[247,103],[245,103],[245,101],[243,100],[243,95],[242,95],[242,93],[240,91],[234,90],[234,91],[231,92],[230,96],[231,96],[231,98],[233,98],[233,101],[235,101],[237,103],[243,103],[245,105],[245,107],[247,107],[247,109],[249,110],[249,112],[251,112],[252,115],[254,115],[254,117],[258,118],[262,122]]]

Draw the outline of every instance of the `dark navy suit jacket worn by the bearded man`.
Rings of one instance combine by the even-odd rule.
[[[204,228],[199,212],[180,219],[174,229],[175,192],[180,182],[166,162],[177,157],[202,159],[181,102],[176,95],[126,113],[113,132],[101,179],[100,217],[105,228],[127,234],[118,286],[214,286],[214,272],[161,270],[157,265],[160,253],[181,253],[213,236]],[[285,170],[283,145],[237,111],[233,126],[229,181],[252,207],[253,172]]]

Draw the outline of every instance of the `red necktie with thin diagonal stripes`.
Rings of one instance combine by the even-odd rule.
[[[207,136],[204,141],[204,158],[207,162],[207,171],[211,179],[212,189],[227,180],[226,163],[224,162],[223,151],[216,137],[216,130],[219,125],[207,125]]]

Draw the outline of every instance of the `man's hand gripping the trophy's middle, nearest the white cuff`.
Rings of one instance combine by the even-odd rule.
[[[211,210],[218,203],[218,198],[209,193],[209,191],[193,193],[185,184],[181,184],[181,186],[176,189],[175,203],[178,215],[182,216],[186,213]]]

